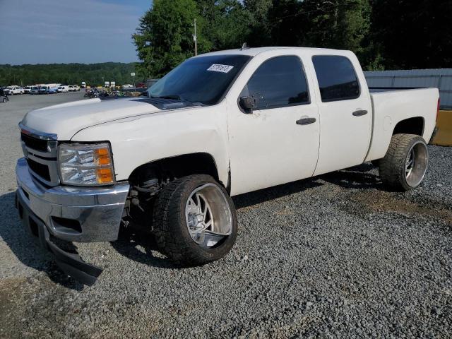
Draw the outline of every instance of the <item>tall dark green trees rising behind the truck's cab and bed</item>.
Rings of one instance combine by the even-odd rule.
[[[154,0],[133,35],[137,69],[160,77],[198,52],[299,46],[350,49],[364,69],[452,66],[450,0]]]

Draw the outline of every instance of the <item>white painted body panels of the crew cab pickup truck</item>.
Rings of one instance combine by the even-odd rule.
[[[225,185],[230,171],[231,195],[379,159],[386,154],[394,126],[403,119],[422,117],[425,141],[432,136],[438,90],[369,94],[352,52],[266,47],[208,55],[215,54],[253,56],[218,105],[161,110],[136,98],[92,99],[37,109],[23,122],[37,131],[57,133],[62,141],[110,141],[117,180],[128,179],[133,169],[147,162],[208,153]],[[319,54],[342,55],[352,61],[361,87],[358,99],[321,102],[311,62]],[[243,113],[237,101],[246,82],[263,61],[283,55],[302,60],[311,103]],[[357,109],[368,114],[354,117]],[[295,121],[302,117],[314,117],[316,122],[297,125]]]

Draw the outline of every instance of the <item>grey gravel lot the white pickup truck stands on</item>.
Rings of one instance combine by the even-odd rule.
[[[105,268],[66,278],[13,208],[17,124],[81,93],[0,104],[1,338],[452,338],[452,148],[420,188],[385,191],[370,164],[234,198],[232,252],[174,268],[143,234],[76,244]]]

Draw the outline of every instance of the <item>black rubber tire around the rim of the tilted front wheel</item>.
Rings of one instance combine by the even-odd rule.
[[[186,222],[186,203],[198,187],[214,184],[225,196],[232,220],[232,232],[211,248],[192,239]],[[237,214],[234,203],[224,187],[205,174],[193,174],[175,179],[165,186],[155,201],[153,213],[155,241],[162,254],[179,266],[200,266],[218,260],[229,253],[237,238]]]

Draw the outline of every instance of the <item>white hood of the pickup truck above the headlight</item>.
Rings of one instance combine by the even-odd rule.
[[[25,115],[22,124],[45,133],[57,134],[58,140],[71,140],[89,126],[126,117],[162,112],[137,98],[90,99],[35,109]]]

